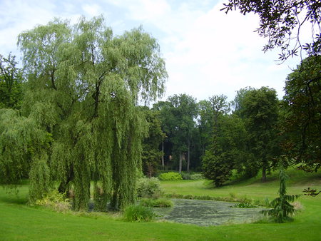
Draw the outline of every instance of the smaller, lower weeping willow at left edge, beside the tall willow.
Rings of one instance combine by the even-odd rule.
[[[43,198],[51,188],[47,155],[51,135],[13,109],[0,109],[0,133],[1,184],[15,187],[30,176],[31,202]]]

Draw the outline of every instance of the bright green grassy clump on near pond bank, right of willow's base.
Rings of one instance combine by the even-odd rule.
[[[130,205],[125,208],[124,219],[128,222],[148,222],[153,220],[155,213],[151,207],[143,207],[141,205]]]

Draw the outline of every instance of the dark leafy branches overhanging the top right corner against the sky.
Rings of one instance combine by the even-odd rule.
[[[240,10],[241,14],[258,14],[260,26],[256,31],[267,38],[263,51],[280,47],[280,60],[297,55],[302,49],[309,56],[321,54],[321,2],[319,0],[229,0],[221,10]],[[310,41],[306,31],[310,24]]]

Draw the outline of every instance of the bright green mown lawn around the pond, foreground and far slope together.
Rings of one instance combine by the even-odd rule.
[[[302,188],[321,189],[320,173],[290,172],[289,193]],[[305,175],[305,177],[302,177]],[[257,179],[211,188],[203,180],[163,182],[166,193],[224,196],[234,193],[248,198],[275,197],[276,175],[272,181]],[[83,217],[25,205],[26,186],[19,195],[0,189],[0,240],[320,240],[321,197],[300,198],[304,210],[295,221],[285,224],[243,224],[198,227],[169,222],[123,222],[108,215]]]

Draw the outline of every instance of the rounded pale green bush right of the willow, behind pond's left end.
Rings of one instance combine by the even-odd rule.
[[[138,198],[159,198],[163,195],[158,178],[139,178],[136,192]]]

